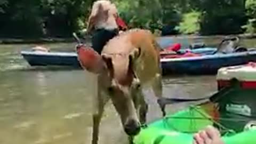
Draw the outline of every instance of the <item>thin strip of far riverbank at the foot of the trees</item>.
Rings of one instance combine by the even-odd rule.
[[[175,37],[175,38],[224,38],[227,35],[209,35],[209,36],[200,36],[200,35],[170,35],[170,36],[163,36],[163,37]],[[256,34],[239,34],[237,35],[240,38],[244,39],[252,39],[256,38]],[[82,40],[89,41],[90,37],[86,36]],[[73,43],[76,40],[73,37],[70,38],[0,38],[0,44],[43,44],[43,43]]]

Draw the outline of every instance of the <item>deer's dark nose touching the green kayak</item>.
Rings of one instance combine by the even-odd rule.
[[[124,125],[124,131],[128,135],[137,135],[140,132],[140,124],[134,119],[130,119]]]

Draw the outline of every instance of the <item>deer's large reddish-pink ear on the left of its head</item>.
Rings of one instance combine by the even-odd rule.
[[[95,74],[100,73],[103,68],[103,60],[98,52],[94,51],[91,47],[78,44],[76,46],[76,53],[83,69]]]

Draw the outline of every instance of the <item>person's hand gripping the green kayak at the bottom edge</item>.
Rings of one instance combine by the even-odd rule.
[[[193,144],[224,144],[220,132],[213,126],[207,126],[205,130],[194,135]]]

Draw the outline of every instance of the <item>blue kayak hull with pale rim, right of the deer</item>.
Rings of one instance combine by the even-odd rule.
[[[256,51],[161,59],[164,74],[217,74],[221,67],[243,65],[248,62],[256,62]]]

